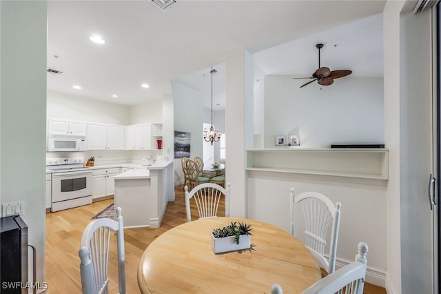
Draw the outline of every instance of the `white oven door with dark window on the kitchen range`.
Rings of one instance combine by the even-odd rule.
[[[92,195],[92,170],[52,173],[52,202]]]

